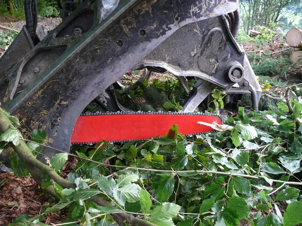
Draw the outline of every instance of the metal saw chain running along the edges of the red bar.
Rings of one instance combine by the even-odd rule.
[[[95,112],[95,113],[84,113],[81,114],[81,116],[108,116],[108,115],[191,115],[191,116],[215,116],[218,117],[221,120],[221,123],[223,124],[223,119],[221,118],[220,115],[218,114],[212,114],[212,113],[202,113],[202,112],[172,112],[172,111],[116,111],[116,112]],[[195,135],[202,135],[202,134],[210,134],[213,132],[203,132],[203,133],[197,133],[197,134],[186,134],[186,137],[193,137]],[[148,138],[146,139],[139,139],[139,140],[121,140],[121,141],[110,141],[108,142],[109,144],[113,143],[126,143],[130,141],[145,141],[149,140]],[[71,145],[94,145],[98,144],[100,142],[88,142],[88,143],[71,143]]]

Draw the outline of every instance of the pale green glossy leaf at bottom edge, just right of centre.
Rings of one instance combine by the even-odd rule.
[[[162,205],[158,205],[150,215],[156,216],[157,218],[171,219],[178,214],[180,208],[177,204],[164,202]]]

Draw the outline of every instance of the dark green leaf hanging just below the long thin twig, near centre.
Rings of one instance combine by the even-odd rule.
[[[156,193],[160,202],[167,201],[174,190],[174,175],[161,175],[153,181],[153,187],[156,187]]]

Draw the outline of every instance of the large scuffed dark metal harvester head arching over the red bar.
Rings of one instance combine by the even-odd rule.
[[[233,0],[87,0],[14,66],[4,66],[2,107],[27,131],[46,130],[48,143],[66,152],[83,109],[137,69],[199,78],[185,112],[214,87],[252,94],[257,109],[260,86],[222,16],[237,8]],[[14,45],[7,51],[12,56]]]

